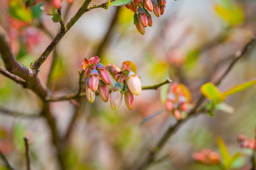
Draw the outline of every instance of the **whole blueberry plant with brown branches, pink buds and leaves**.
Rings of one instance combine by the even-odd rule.
[[[68,155],[68,149],[71,148],[68,137],[72,132],[74,122],[77,119],[77,115],[71,120],[71,123],[65,132],[65,135],[60,133],[58,129],[55,115],[52,113],[53,108],[51,107],[52,102],[58,101],[69,101],[76,108],[79,108],[82,103],[83,98],[87,98],[90,102],[90,106],[95,104],[97,100],[96,96],[99,95],[103,102],[110,102],[110,108],[112,110],[118,110],[121,107],[121,103],[124,102],[130,112],[133,111],[136,106],[136,98],[138,95],[143,95],[143,90],[156,90],[158,88],[165,88],[162,91],[163,95],[163,105],[162,110],[154,114],[145,116],[141,119],[141,125],[154,119],[157,115],[165,112],[168,117],[175,120],[174,124],[168,125],[167,130],[159,137],[158,142],[153,143],[150,149],[137,159],[138,162],[127,165],[127,163],[122,162],[122,170],[146,170],[151,164],[157,162],[158,153],[163,150],[163,147],[167,143],[168,139],[173,136],[179,127],[183,125],[187,120],[194,116],[207,113],[210,116],[214,116],[216,111],[222,112],[232,112],[231,106],[225,103],[226,98],[229,95],[238,93],[247,89],[248,87],[255,85],[256,80],[247,81],[239,85],[235,85],[232,88],[227,89],[224,92],[220,92],[218,85],[222,80],[229,74],[236,63],[247,53],[250,47],[255,42],[256,38],[253,36],[250,41],[248,41],[241,50],[239,50],[235,57],[231,59],[231,62],[225,68],[222,75],[215,82],[207,82],[201,84],[201,96],[197,100],[192,96],[191,89],[188,85],[183,82],[175,81],[170,79],[169,74],[167,74],[164,81],[157,83],[155,85],[142,86],[144,82],[141,81],[139,74],[137,75],[136,63],[131,60],[122,61],[122,65],[117,67],[117,63],[108,62],[107,59],[104,61],[101,58],[100,52],[97,53],[98,56],[86,56],[81,62],[82,68],[78,68],[79,79],[78,79],[78,89],[75,93],[56,95],[53,92],[52,77],[54,74],[54,68],[57,61],[58,43],[62,40],[67,32],[71,32],[71,27],[90,10],[97,10],[97,8],[103,8],[108,10],[112,6],[126,7],[126,10],[131,10],[133,14],[133,23],[137,28],[137,34],[145,34],[145,28],[147,26],[153,26],[153,20],[151,15],[160,17],[165,13],[166,0],[108,0],[99,5],[92,3],[92,0],[84,0],[81,7],[73,15],[73,17],[67,22],[68,12],[74,3],[74,0],[7,0],[8,11],[7,20],[10,25],[10,29],[6,29],[0,26],[0,73],[5,76],[5,78],[16,82],[24,88],[31,90],[39,98],[39,105],[41,106],[40,114],[26,114],[15,112],[14,110],[8,110],[3,106],[0,108],[0,113],[7,114],[9,116],[20,116],[25,118],[36,118],[43,117],[46,120],[46,125],[50,129],[50,137],[52,144],[55,148],[55,158],[57,161],[57,167],[60,170],[68,169],[93,169],[83,166],[77,166],[76,163],[71,162],[68,164],[66,162],[66,157]],[[64,10],[63,4],[66,4]],[[152,13],[153,12],[153,13]],[[59,23],[60,29],[56,35],[53,35],[45,26],[42,21],[41,15],[51,16],[52,22]],[[116,19],[116,18],[114,18]],[[24,29],[21,29],[24,28]],[[110,29],[112,26],[110,26]],[[42,54],[34,61],[30,61],[31,65],[26,67],[18,58],[22,56],[23,50],[30,52],[33,46],[36,45],[40,40],[37,36],[36,30],[42,30],[48,37],[52,39],[50,44],[42,52]],[[106,34],[106,37],[109,34]],[[144,35],[146,36],[146,35]],[[21,47],[16,54],[17,50],[17,40],[20,40]],[[102,41],[106,43],[106,41]],[[155,42],[154,42],[155,43]],[[70,47],[72,48],[72,47]],[[49,74],[47,77],[47,82],[43,82],[39,78],[41,67],[46,60],[49,60],[49,55],[53,53],[52,64],[49,69]],[[106,65],[102,64],[103,62]],[[182,62],[182,59],[173,59],[175,61]],[[102,63],[101,63],[102,62]],[[175,65],[175,62],[174,62]],[[177,69],[180,64],[175,66]],[[73,69],[73,68],[68,68]],[[140,70],[143,72],[143,70]],[[3,78],[3,77],[0,77]],[[0,79],[1,80],[1,79]],[[65,86],[65,85],[63,85]],[[0,94],[1,95],[1,94]],[[98,98],[99,99],[99,98]],[[157,99],[158,100],[158,99]],[[230,109],[231,108],[231,109]],[[120,109],[119,109],[120,110]],[[20,167],[11,163],[13,159],[8,159],[8,153],[10,152],[10,146],[5,141],[6,136],[9,136],[7,131],[0,129],[0,158],[3,162],[3,166],[0,165],[0,170],[16,170],[14,167]],[[124,137],[125,138],[125,137]],[[27,170],[31,169],[33,164],[33,154],[29,149],[29,137],[24,136],[25,142],[25,153],[24,160],[26,160]],[[242,161],[241,158],[245,155],[241,153],[235,153],[230,155],[226,144],[223,139],[218,136],[217,144],[219,147],[220,154],[216,151],[210,149],[201,148],[199,152],[194,153],[191,157],[201,164],[205,164],[209,167],[215,166],[220,170],[231,170],[231,169],[241,169],[243,170],[256,170],[256,139],[255,137],[248,138],[245,135],[238,136],[238,142],[242,148],[250,150],[250,160],[249,163]],[[117,146],[116,146],[117,147]],[[70,155],[68,155],[70,156]],[[77,155],[74,157],[78,157]],[[20,161],[15,161],[15,163],[20,163]],[[129,162],[130,163],[130,162]],[[37,165],[35,165],[37,166]],[[77,168],[79,167],[79,168]],[[82,168],[81,168],[82,167]],[[48,169],[47,167],[45,169]],[[96,169],[96,168],[94,168]]]

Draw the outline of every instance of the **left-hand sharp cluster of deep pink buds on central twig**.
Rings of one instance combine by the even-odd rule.
[[[94,102],[95,92],[98,90],[101,99],[104,102],[109,100],[109,89],[107,85],[111,84],[111,78],[107,68],[100,63],[100,59],[91,57],[91,59],[84,59],[82,69],[85,71],[84,75],[87,77],[85,82],[86,97],[89,102]]]

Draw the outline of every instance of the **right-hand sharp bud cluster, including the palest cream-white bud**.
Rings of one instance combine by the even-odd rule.
[[[123,100],[123,95],[126,106],[129,110],[132,110],[134,95],[139,95],[141,93],[140,77],[131,70],[129,63],[130,61],[124,61],[122,70],[113,64],[106,66],[109,69],[110,74],[117,81],[110,93],[110,105],[113,110],[119,108]]]

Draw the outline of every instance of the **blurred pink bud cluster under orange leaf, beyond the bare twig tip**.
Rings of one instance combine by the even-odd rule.
[[[171,111],[178,120],[182,119],[182,112],[188,110],[189,97],[184,93],[186,89],[184,85],[175,83],[167,94],[165,109]]]

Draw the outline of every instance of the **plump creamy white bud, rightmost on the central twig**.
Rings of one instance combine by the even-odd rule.
[[[130,71],[127,77],[127,85],[131,93],[139,95],[141,93],[141,82],[139,76]]]

